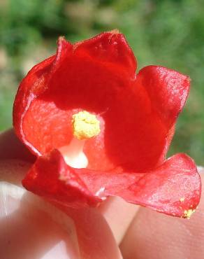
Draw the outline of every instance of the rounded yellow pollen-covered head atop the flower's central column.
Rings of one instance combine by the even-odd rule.
[[[101,132],[100,121],[94,114],[80,111],[72,116],[73,135],[79,140],[96,137]]]

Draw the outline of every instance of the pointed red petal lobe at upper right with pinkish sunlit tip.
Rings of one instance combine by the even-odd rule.
[[[153,109],[169,128],[186,102],[190,78],[163,66],[145,66],[138,73],[137,86],[145,88]]]

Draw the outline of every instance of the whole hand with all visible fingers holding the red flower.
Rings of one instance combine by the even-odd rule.
[[[0,135],[0,160],[0,183],[12,184],[8,186],[12,190],[20,185],[34,157],[10,130]],[[5,202],[1,198],[0,203]],[[61,212],[27,192],[20,202],[13,202],[11,197],[6,202],[8,216],[2,217],[2,206],[0,209],[0,251],[6,259],[117,259],[122,255],[124,259],[204,258],[203,197],[190,220],[139,208],[117,198],[104,202],[99,209],[81,211],[80,216],[71,209],[60,208]],[[87,239],[90,233],[93,239]]]

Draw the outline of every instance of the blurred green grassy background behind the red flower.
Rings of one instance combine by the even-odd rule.
[[[169,155],[185,152],[204,165],[203,0],[0,0],[0,131],[12,125],[20,80],[55,52],[58,36],[74,42],[115,28],[139,68],[159,64],[191,77]]]

